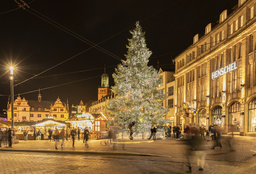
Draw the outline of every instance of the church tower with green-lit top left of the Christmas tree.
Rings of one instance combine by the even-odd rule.
[[[104,69],[104,74],[101,75],[101,86],[98,88],[98,100],[100,100],[105,95],[111,93],[111,89],[109,88],[109,75],[106,74],[106,66]]]

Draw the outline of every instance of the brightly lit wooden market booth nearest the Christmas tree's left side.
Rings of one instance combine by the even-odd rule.
[[[106,130],[106,117],[103,113],[80,113],[69,118],[68,123],[72,128],[80,128],[81,133],[85,127],[90,128],[92,134],[89,135],[90,138],[101,139],[103,137],[103,132]],[[83,134],[81,134],[83,136]]]

